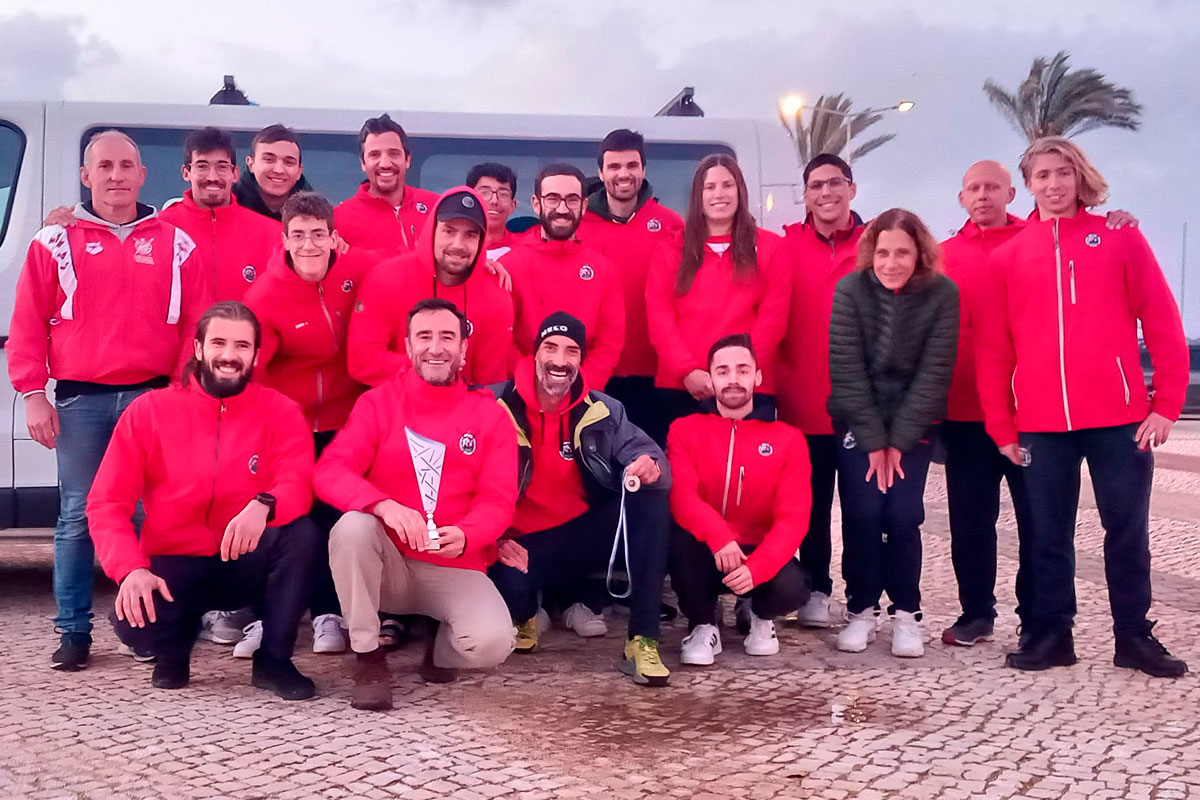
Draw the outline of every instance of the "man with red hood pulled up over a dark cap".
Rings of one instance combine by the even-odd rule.
[[[372,267],[359,291],[348,341],[350,374],[379,386],[407,371],[404,315],[420,300],[444,297],[467,317],[463,378],[502,381],[512,350],[512,296],[486,271],[484,199],[456,186],[430,209],[416,248]]]

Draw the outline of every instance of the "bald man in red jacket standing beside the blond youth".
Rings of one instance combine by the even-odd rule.
[[[1021,468],[1003,457],[983,426],[983,408],[976,389],[974,325],[986,302],[984,276],[992,251],[1019,234],[1025,221],[1008,213],[1016,197],[1003,164],[979,161],[962,176],[959,203],[970,215],[962,228],[942,242],[946,273],[959,285],[959,350],[947,401],[946,491],[950,513],[950,554],[959,583],[962,613],[942,633],[946,644],[972,646],[992,638],[996,616],[996,519],[1000,517],[1000,483],[1008,481],[1016,512],[1019,563],[1016,615],[1022,630],[1031,609],[1032,575],[1028,569],[1030,512]],[[1037,212],[1034,212],[1036,215]],[[1110,228],[1138,224],[1124,211],[1109,213]]]

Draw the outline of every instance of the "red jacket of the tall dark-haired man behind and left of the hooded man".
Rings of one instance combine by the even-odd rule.
[[[438,196],[415,186],[404,187],[400,207],[370,193],[366,181],[354,197],[334,209],[334,228],[353,247],[396,255],[413,249]]]

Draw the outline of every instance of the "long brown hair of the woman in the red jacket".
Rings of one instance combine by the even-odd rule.
[[[683,260],[676,275],[676,295],[682,297],[691,290],[696,272],[704,261],[704,240],[708,239],[708,219],[704,218],[704,180],[713,167],[725,167],[738,186],[738,210],[733,215],[730,252],[733,257],[733,275],[739,279],[752,279],[758,270],[758,224],[750,213],[750,192],[746,179],[733,156],[714,152],[704,156],[691,178],[691,197],[688,199],[688,218],[683,225]]]

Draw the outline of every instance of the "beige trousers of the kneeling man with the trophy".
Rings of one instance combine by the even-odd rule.
[[[494,667],[512,652],[516,628],[491,579],[476,570],[404,558],[374,515],[350,511],[337,521],[329,565],[355,652],[379,646],[379,612],[440,621],[433,643],[438,667]]]

